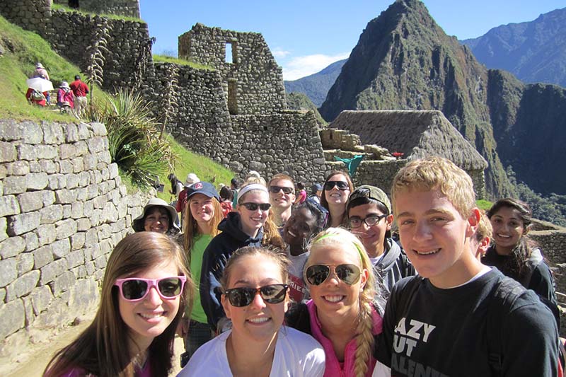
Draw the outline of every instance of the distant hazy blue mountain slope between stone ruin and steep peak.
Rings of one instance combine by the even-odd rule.
[[[287,93],[304,93],[318,107],[323,104],[328,89],[340,74],[347,59],[330,64],[322,71],[293,81],[284,81]]]

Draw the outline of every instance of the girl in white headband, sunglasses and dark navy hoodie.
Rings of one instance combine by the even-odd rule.
[[[220,278],[229,258],[244,246],[272,245],[283,248],[284,243],[277,226],[270,219],[270,198],[267,187],[261,183],[244,185],[238,192],[236,211],[230,212],[218,228],[202,258],[200,274],[200,302],[209,325],[216,332],[224,310],[220,303]]]

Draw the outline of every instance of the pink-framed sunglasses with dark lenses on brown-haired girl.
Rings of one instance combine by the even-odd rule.
[[[164,300],[169,300],[180,296],[187,277],[162,277],[161,279],[142,279],[141,277],[128,277],[126,279],[116,279],[114,283],[120,289],[122,298],[127,301],[143,300],[151,287],[155,286],[157,293]]]

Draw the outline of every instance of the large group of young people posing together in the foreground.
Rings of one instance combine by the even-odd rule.
[[[189,178],[134,219],[96,318],[45,376],[168,376],[175,333],[178,376],[562,376],[529,206],[483,214],[451,161],[408,163],[391,201],[342,171],[310,196],[285,174],[222,196]]]

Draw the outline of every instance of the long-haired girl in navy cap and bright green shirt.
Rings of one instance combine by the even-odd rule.
[[[183,226],[185,226],[183,245],[185,245],[191,277],[197,284],[197,290],[192,311],[185,311],[185,318],[181,321],[180,333],[185,340],[185,353],[181,355],[181,366],[185,366],[196,349],[214,336],[212,328],[207,323],[207,315],[200,304],[198,284],[204,250],[210,240],[220,233],[218,224],[224,218],[218,192],[209,182],[192,184],[187,191],[187,200],[188,210],[185,211],[183,220]]]

